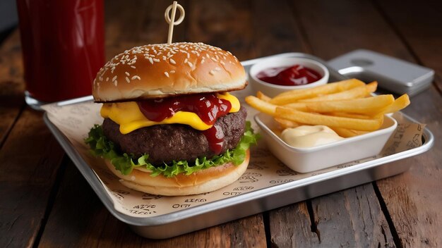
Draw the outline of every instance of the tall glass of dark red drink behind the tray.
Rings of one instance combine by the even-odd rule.
[[[17,0],[26,102],[90,95],[104,65],[102,0]]]

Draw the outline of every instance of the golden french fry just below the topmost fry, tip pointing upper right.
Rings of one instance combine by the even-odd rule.
[[[310,99],[301,99],[299,101],[337,101],[345,99],[363,98],[363,97],[368,97],[371,93],[375,92],[377,86],[378,82],[370,82],[367,85],[354,87],[352,89],[343,92],[338,92],[334,94],[325,94],[323,96],[313,97]]]

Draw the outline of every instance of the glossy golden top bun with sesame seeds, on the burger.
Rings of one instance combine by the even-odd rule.
[[[112,58],[97,73],[97,102],[154,99],[225,92],[246,87],[246,73],[230,52],[203,43],[136,46]]]

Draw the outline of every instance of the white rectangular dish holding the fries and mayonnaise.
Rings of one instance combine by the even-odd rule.
[[[293,171],[308,173],[342,163],[375,156],[381,152],[398,126],[394,118],[385,116],[379,130],[310,148],[294,148],[282,141],[272,130],[277,127],[273,117],[258,113],[255,121],[261,128],[268,149]]]

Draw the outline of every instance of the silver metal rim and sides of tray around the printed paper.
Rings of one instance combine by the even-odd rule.
[[[301,53],[287,53],[277,54],[275,56],[298,56],[313,58],[321,63],[327,64],[325,61],[315,56]],[[253,59],[242,62],[246,71],[249,70],[253,63],[260,61],[262,58]],[[343,80],[345,76],[340,75],[333,68],[330,70],[330,80]],[[73,99],[69,101],[61,101],[59,106],[66,104],[78,104],[84,101],[90,101],[92,97],[83,97],[80,99]],[[405,116],[406,120],[416,122],[412,118]],[[89,182],[92,189],[97,193],[102,200],[104,206],[118,218],[120,221],[131,226],[133,231],[143,237],[162,239],[167,237],[174,237],[184,233],[190,233],[194,230],[208,228],[220,223],[226,223],[245,216],[251,216],[256,213],[275,209],[280,206],[300,202],[305,199],[317,197],[322,194],[328,194],[338,190],[343,190],[348,187],[362,185],[366,182],[387,178],[407,171],[410,168],[410,163],[394,163],[388,164],[392,161],[398,161],[410,156],[422,154],[428,151],[434,143],[434,136],[431,132],[424,128],[423,144],[421,147],[402,151],[390,156],[384,156],[381,159],[374,159],[359,163],[354,166],[340,168],[335,171],[321,173],[318,175],[311,175],[308,178],[286,182],[272,187],[266,187],[261,190],[255,190],[238,194],[226,199],[220,199],[215,202],[192,206],[189,209],[182,209],[173,213],[167,213],[160,216],[153,217],[133,217],[127,216],[124,213],[117,211],[114,208],[114,203],[109,197],[109,194],[104,189],[102,182],[97,178],[97,175],[92,171],[90,166],[79,155],[78,151],[74,149],[71,142],[64,136],[61,131],[49,120],[47,113],[44,114],[44,122],[52,131],[56,140],[59,141],[61,147],[64,148],[73,163],[77,166],[80,173]],[[252,154],[253,156],[253,154]]]

